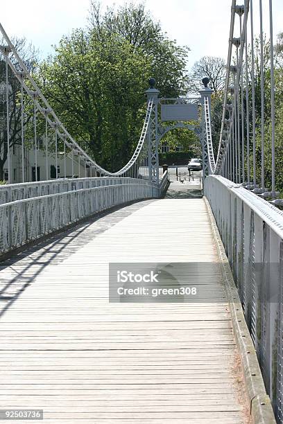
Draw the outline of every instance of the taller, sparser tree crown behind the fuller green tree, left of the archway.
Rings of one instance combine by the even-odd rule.
[[[188,89],[187,53],[189,47],[178,46],[162,31],[144,3],[125,3],[119,8],[106,8],[101,3],[91,2],[89,26],[103,40],[112,34],[129,42],[133,48],[151,62],[160,95],[176,97],[186,94]]]

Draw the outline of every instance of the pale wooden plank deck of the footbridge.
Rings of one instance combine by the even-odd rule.
[[[108,303],[111,261],[217,262],[205,202],[132,204],[1,263],[0,409],[44,409],[50,424],[247,423],[223,281],[200,279],[214,303]]]

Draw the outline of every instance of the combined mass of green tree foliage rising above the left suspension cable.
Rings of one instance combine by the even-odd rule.
[[[98,163],[117,170],[137,144],[148,78],[162,96],[187,91],[187,51],[144,4],[103,12],[92,2],[88,28],[60,40],[37,81],[69,132]]]

